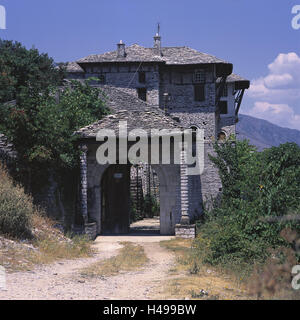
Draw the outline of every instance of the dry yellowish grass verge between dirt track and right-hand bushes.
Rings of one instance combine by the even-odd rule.
[[[201,264],[193,255],[192,244],[190,239],[160,242],[163,248],[173,251],[176,256],[176,265],[169,270],[172,277],[164,285],[162,299],[251,299],[246,288],[234,277]]]

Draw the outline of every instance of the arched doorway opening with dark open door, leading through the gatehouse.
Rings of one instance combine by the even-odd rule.
[[[101,234],[160,234],[159,179],[151,165],[110,165],[101,190]]]

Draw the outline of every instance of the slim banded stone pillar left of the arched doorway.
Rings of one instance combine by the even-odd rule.
[[[84,220],[84,224],[88,223],[88,208],[87,208],[87,150],[85,144],[79,147],[80,154],[80,210]]]

